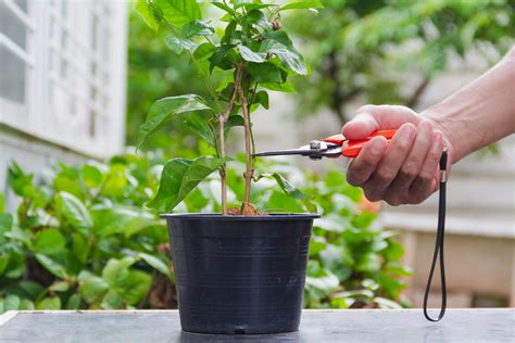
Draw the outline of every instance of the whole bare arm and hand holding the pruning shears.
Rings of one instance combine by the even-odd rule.
[[[348,168],[348,181],[370,201],[391,205],[423,202],[438,189],[438,162],[465,155],[515,131],[515,48],[494,67],[420,114],[392,105],[366,105],[343,126],[361,140],[375,130],[399,128],[391,142],[373,139]]]

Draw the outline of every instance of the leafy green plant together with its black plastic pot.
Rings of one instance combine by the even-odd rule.
[[[319,1],[271,4],[259,0],[212,1],[222,17],[215,27],[202,21],[196,0],[140,0],[147,24],[167,35],[166,46],[188,54],[210,93],[156,101],[140,127],[140,144],[172,116],[201,113],[187,125],[213,148],[213,155],[174,158],[163,168],[159,190],[149,202],[167,219],[183,330],[203,333],[275,333],[299,328],[307,251],[317,215],[267,214],[251,203],[251,185],[277,180],[289,195],[316,211],[310,196],[278,174],[255,172],[251,113],[268,109],[268,90],[293,91],[288,78],[309,67],[281,27],[284,11],[322,8]],[[218,87],[213,71],[224,71]],[[244,194],[228,207],[226,137],[244,131]],[[200,181],[218,170],[219,214],[172,214]]]

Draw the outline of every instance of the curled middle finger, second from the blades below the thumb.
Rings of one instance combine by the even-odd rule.
[[[365,195],[369,201],[384,199],[385,190],[397,177],[402,164],[411,151],[415,139],[416,128],[413,124],[404,124],[393,136],[387,153],[382,157],[370,179],[363,185]]]

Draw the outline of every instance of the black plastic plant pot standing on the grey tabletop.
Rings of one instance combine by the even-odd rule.
[[[184,331],[299,330],[317,215],[163,215],[168,223]]]

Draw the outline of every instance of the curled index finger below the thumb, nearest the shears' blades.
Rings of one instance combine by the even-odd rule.
[[[352,186],[366,182],[377,167],[388,145],[385,137],[375,137],[363,147],[347,169],[347,181]]]

